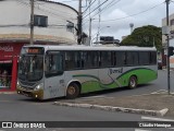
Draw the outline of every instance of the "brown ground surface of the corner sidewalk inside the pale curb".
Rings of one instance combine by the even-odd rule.
[[[167,94],[149,94],[124,97],[90,97],[77,98],[73,100],[63,100],[75,104],[91,104],[101,106],[114,106],[135,109],[161,110],[169,108],[165,116],[174,117],[174,95]]]

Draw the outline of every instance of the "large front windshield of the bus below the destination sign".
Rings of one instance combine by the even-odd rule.
[[[42,55],[23,55],[18,62],[18,79],[23,81],[38,81],[44,75]]]

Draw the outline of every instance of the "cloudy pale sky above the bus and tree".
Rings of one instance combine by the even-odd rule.
[[[78,0],[53,0],[71,5],[78,10]],[[83,0],[83,31],[89,34],[89,1]],[[91,0],[91,3],[95,0]],[[130,34],[130,26],[145,25],[162,26],[162,19],[166,16],[165,0],[96,0],[90,5],[91,39],[99,36],[114,36],[122,40],[122,36]],[[100,5],[100,9],[98,8]],[[86,11],[86,9],[88,10]],[[170,14],[174,13],[174,0],[171,0]],[[99,22],[100,10],[100,22]]]

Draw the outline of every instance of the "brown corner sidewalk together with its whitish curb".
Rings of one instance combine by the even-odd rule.
[[[136,96],[65,99],[54,105],[174,118],[174,94],[167,95],[164,91]]]

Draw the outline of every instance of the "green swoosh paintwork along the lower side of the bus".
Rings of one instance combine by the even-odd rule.
[[[121,84],[121,86],[127,86],[129,78],[132,75],[136,75],[138,80],[138,84],[144,84],[157,79],[157,72],[146,68],[137,68],[133,70],[128,70],[122,73],[120,76],[116,78],[116,81]],[[88,74],[77,74],[73,75],[73,78],[91,78],[94,80],[89,80],[82,83],[82,93],[95,92],[95,91],[102,91],[109,88],[116,88],[119,87],[115,80],[110,83],[101,83],[100,79],[95,75]]]

